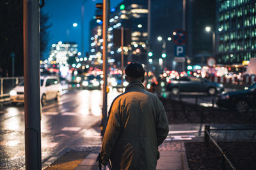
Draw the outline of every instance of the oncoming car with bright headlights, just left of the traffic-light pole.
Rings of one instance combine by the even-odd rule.
[[[100,75],[90,74],[88,76],[84,76],[84,80],[82,81],[83,89],[101,89],[102,78]]]

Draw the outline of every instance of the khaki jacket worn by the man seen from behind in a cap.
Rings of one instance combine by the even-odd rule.
[[[163,104],[155,94],[132,82],[116,97],[102,141],[102,164],[111,160],[113,170],[156,169],[158,146],[168,135]]]

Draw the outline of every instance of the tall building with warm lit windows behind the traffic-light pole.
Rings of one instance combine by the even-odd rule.
[[[97,13],[97,11],[96,11]],[[113,30],[131,30],[131,45],[124,46],[124,66],[128,61],[146,63],[147,59],[147,1],[123,1],[111,9],[108,28],[108,62],[121,66],[121,48],[113,45]],[[93,18],[90,22],[91,64],[102,64],[102,22]]]

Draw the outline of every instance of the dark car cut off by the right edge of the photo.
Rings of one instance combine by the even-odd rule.
[[[227,92],[218,96],[217,106],[234,109],[238,112],[247,112],[256,106],[256,84],[243,91]]]

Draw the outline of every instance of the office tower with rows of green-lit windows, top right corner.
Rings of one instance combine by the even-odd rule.
[[[256,57],[256,2],[216,1],[216,59],[220,64],[242,64]]]

